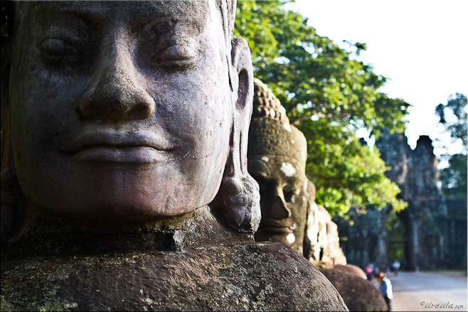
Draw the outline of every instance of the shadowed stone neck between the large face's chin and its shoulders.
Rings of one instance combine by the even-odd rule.
[[[253,242],[252,233],[234,232],[213,217],[203,206],[180,217],[134,227],[95,229],[75,227],[68,218],[43,211],[34,227],[2,248],[2,260],[31,257],[67,257],[83,254],[108,254],[149,251],[184,251],[195,247]],[[83,225],[80,222],[80,225]]]

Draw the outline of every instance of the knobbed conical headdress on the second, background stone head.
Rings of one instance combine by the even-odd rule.
[[[263,82],[255,78],[248,158],[260,155],[289,156],[304,168],[307,140],[301,131],[289,124],[286,109],[280,100]]]

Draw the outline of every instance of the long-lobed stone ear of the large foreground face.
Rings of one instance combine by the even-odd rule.
[[[247,171],[248,130],[253,101],[252,61],[247,41],[234,38],[231,44],[233,72],[230,73],[230,80],[235,113],[223,181],[211,203],[211,210],[213,215],[233,229],[255,232],[260,225],[260,192],[257,182]]]

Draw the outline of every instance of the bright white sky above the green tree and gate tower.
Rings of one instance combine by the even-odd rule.
[[[349,50],[344,40],[367,44],[358,60],[390,78],[380,91],[413,105],[405,132],[411,148],[420,135],[450,141],[435,107],[456,92],[468,96],[468,0],[296,0],[284,8],[341,48]],[[433,145],[436,156],[444,152]]]

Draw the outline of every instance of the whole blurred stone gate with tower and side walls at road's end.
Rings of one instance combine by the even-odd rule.
[[[456,213],[455,208],[453,213],[447,210],[437,186],[439,173],[432,140],[420,136],[412,150],[404,134],[385,132],[376,146],[390,166],[385,175],[398,184],[400,198],[408,203],[408,208],[398,213],[404,235],[398,240],[388,240],[385,222],[391,207],[368,208],[366,215],[351,209],[348,220],[339,221],[340,237],[346,237],[342,247],[348,261],[386,267],[393,261],[388,259],[388,245],[403,244],[405,259],[400,261],[406,262],[410,270],[466,266],[466,208],[459,209],[464,214]],[[455,249],[461,250],[458,256]]]

